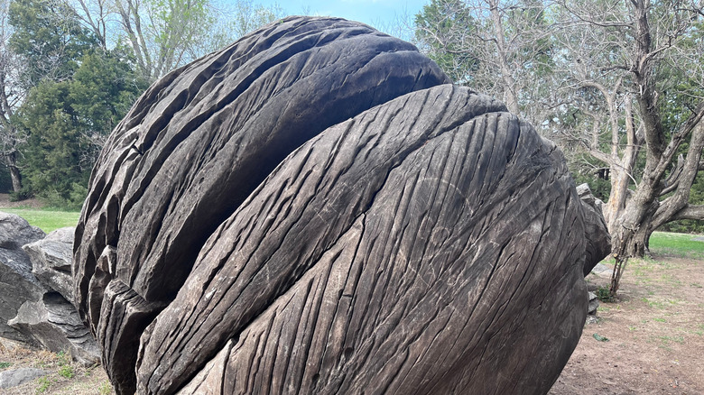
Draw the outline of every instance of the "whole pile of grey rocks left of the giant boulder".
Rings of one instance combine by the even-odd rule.
[[[0,338],[100,362],[88,327],[69,300],[74,228],[42,230],[0,212]],[[0,339],[0,341],[2,341]]]

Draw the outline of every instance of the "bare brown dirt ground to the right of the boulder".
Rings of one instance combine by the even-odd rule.
[[[587,279],[593,289],[609,276]],[[704,262],[628,262],[618,293],[584,327],[550,395],[704,394]]]

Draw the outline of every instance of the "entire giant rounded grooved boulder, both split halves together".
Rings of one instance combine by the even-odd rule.
[[[366,25],[291,17],[155,83],[74,245],[117,393],[549,390],[590,217],[553,143],[448,82]]]

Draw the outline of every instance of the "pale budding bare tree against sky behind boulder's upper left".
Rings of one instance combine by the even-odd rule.
[[[283,16],[280,6],[252,0],[68,1],[104,48],[125,40],[150,80]]]

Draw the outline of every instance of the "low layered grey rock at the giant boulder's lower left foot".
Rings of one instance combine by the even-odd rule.
[[[38,301],[24,302],[8,325],[31,334],[49,351],[68,352],[74,361],[87,366],[100,363],[96,339],[83,325],[73,304],[57,292],[47,292]]]

